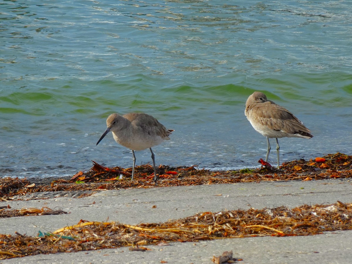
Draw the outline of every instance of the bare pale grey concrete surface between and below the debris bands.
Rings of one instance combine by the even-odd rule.
[[[61,208],[69,214],[1,219],[0,233],[14,234],[18,231],[37,235],[39,230],[52,232],[75,225],[80,219],[134,225],[164,222],[206,211],[277,206],[293,208],[303,204],[329,204],[337,200],[352,202],[352,181],[277,181],[110,190],[80,199],[58,197],[11,201],[12,208],[47,206]],[[153,205],[156,208],[152,208]],[[153,249],[151,252],[131,252],[127,248],[118,248],[37,255],[2,260],[1,263],[161,263],[161,260],[168,263],[211,263],[211,256],[229,250],[234,252],[234,257],[244,259],[241,263],[351,263],[351,235],[352,231],[339,231],[308,237],[221,239],[172,243],[163,247],[148,246]]]

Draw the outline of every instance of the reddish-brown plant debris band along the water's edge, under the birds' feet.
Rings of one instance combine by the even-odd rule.
[[[263,161],[264,162],[264,161]],[[108,168],[93,162],[92,168],[80,171],[71,178],[46,179],[0,179],[0,201],[26,199],[27,193],[44,191],[85,191],[78,197],[89,196],[96,191],[125,188],[156,188],[170,186],[193,186],[202,184],[323,180],[352,177],[352,156],[342,153],[328,154],[321,158],[305,161],[285,162],[280,170],[267,164],[261,169],[238,171],[210,171],[196,166],[177,167],[160,165],[157,185],[153,181],[153,167],[149,164],[136,166],[135,179],[131,181],[132,168]],[[16,198],[13,198],[16,196]]]

